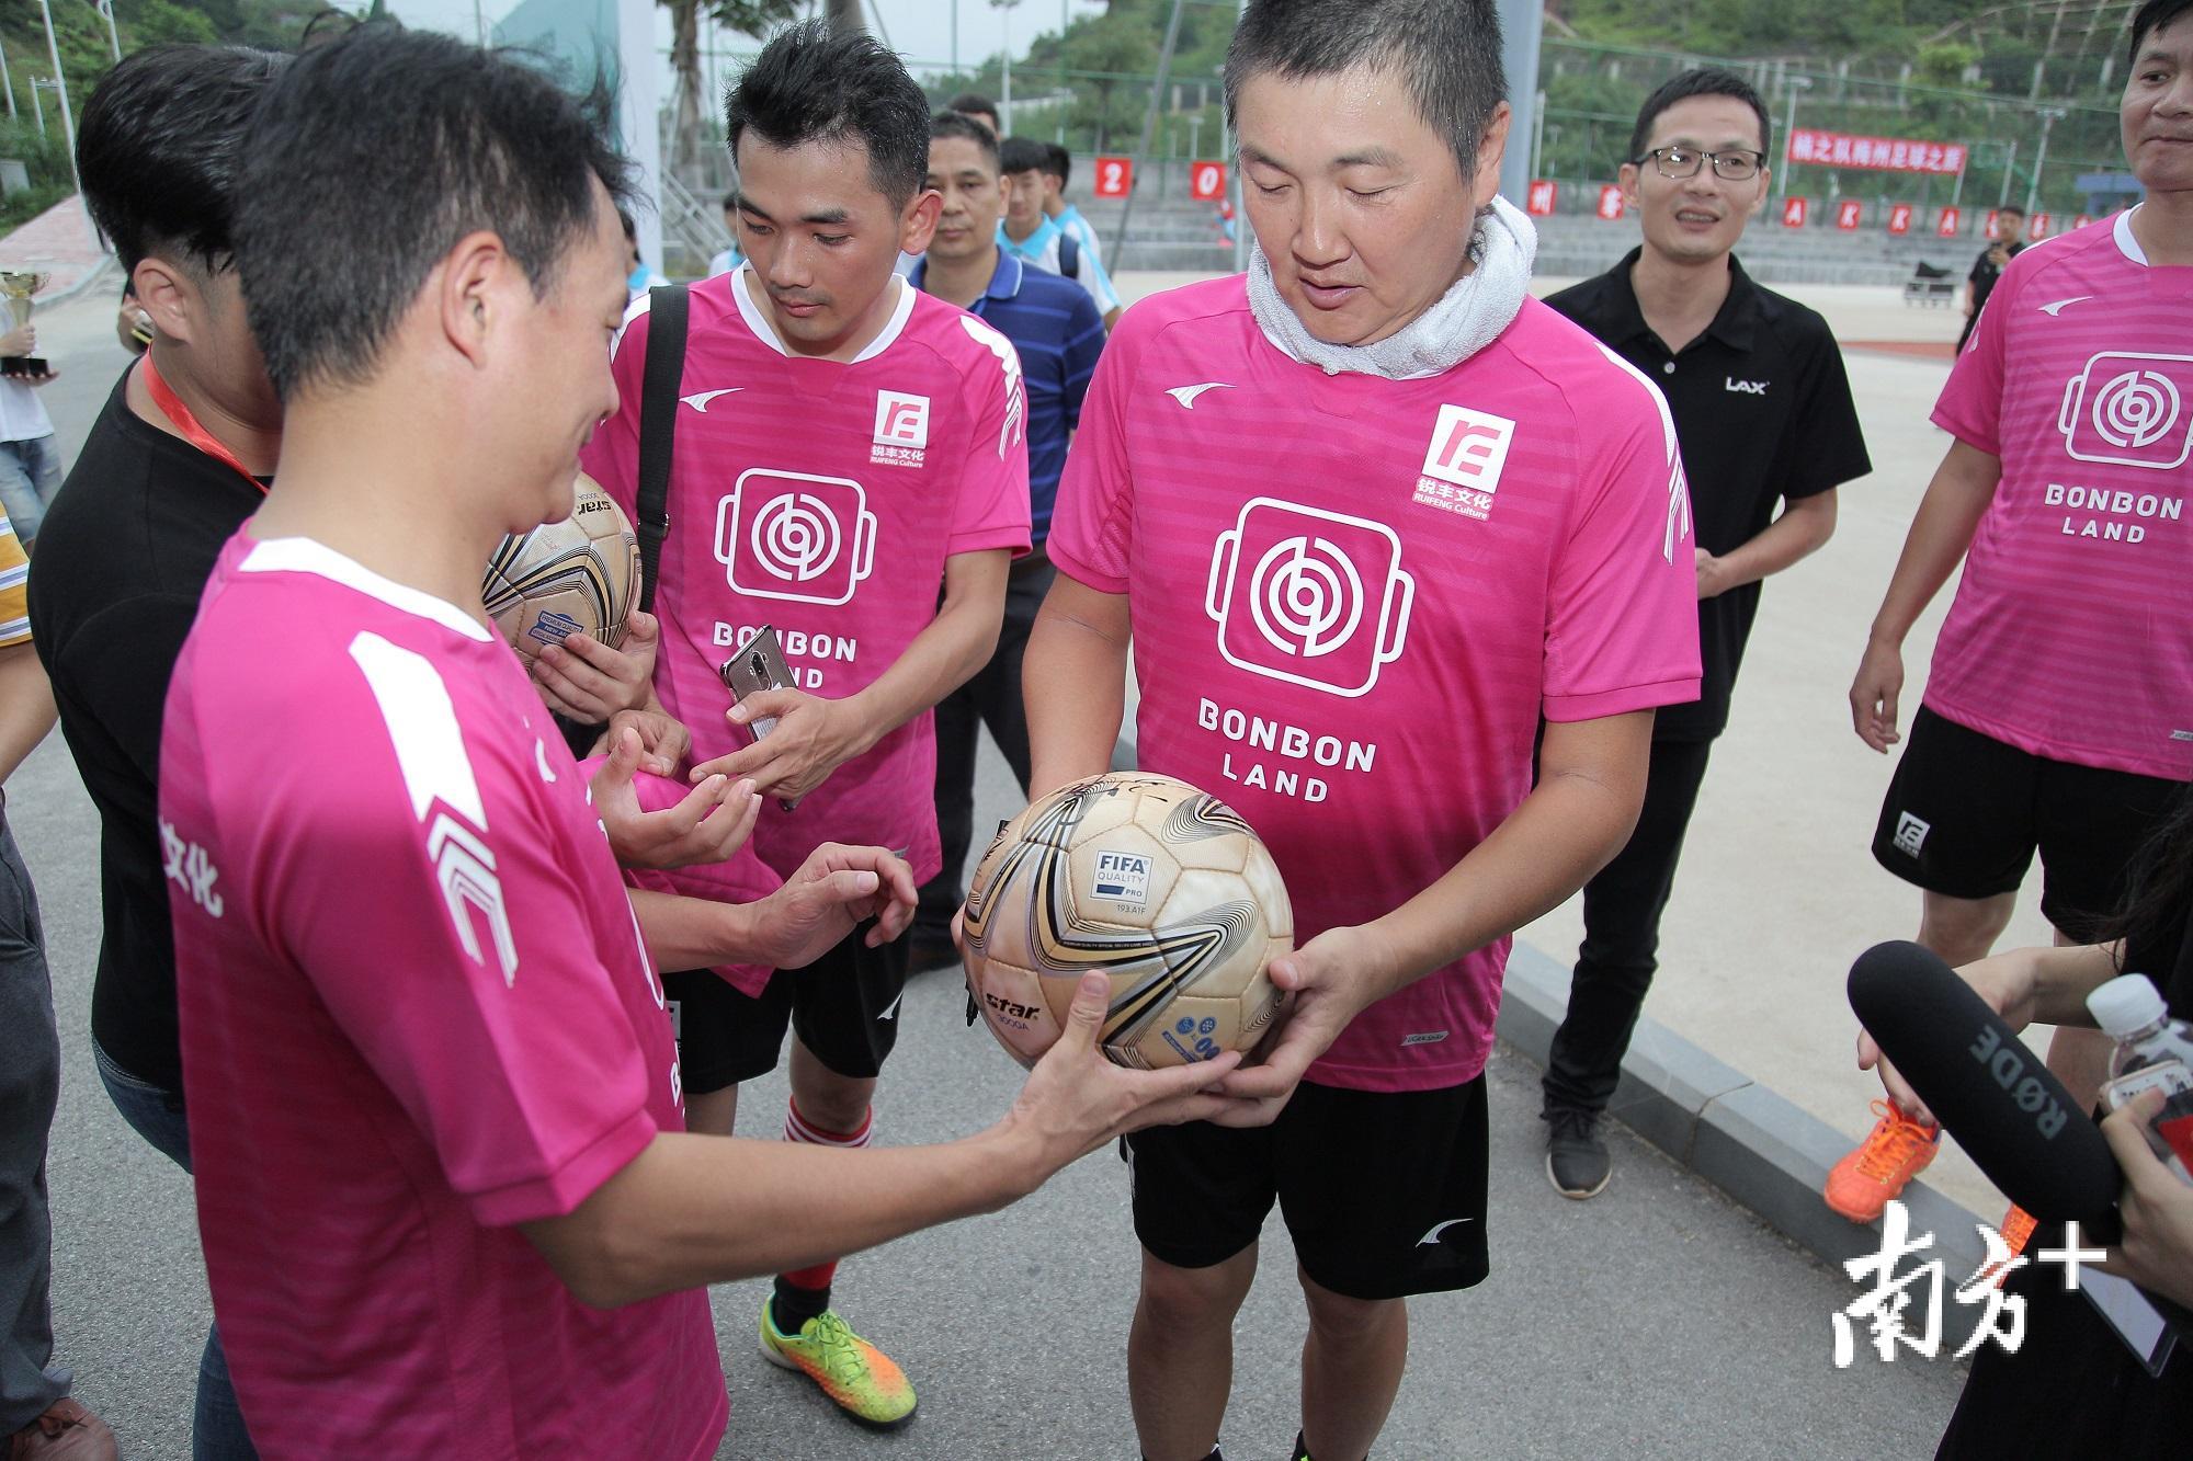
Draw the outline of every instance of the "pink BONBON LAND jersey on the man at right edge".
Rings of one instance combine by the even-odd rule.
[[[2193,268],[2132,215],[2035,244],[1934,426],[2002,458],[1925,704],[2033,755],[2193,779]]]

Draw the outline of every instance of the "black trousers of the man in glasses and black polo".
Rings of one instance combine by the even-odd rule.
[[[1546,1108],[1603,1112],[1645,992],[1660,967],[1660,915],[1675,888],[1682,834],[1697,807],[1713,741],[1654,741],[1645,809],[1629,842],[1583,884],[1583,945],[1568,985],[1568,1013],[1546,1053]]]

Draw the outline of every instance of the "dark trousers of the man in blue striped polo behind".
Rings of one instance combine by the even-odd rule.
[[[952,915],[967,897],[961,871],[974,840],[974,752],[982,726],[989,726],[1020,790],[1029,790],[1029,709],[1020,698],[1020,660],[1029,649],[1035,610],[1044,608],[1055,577],[1057,568],[1046,564],[1007,581],[998,649],[967,684],[936,702],[936,840],[945,862],[921,884],[921,906],[914,910],[914,930],[921,935],[950,937]]]

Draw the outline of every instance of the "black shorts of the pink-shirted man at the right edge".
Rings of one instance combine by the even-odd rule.
[[[2050,761],[1919,706],[1882,801],[1873,858],[1947,897],[2015,893],[2042,853],[2042,915],[2086,939],[2182,781]]]

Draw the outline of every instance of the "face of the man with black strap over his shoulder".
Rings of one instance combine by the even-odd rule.
[[[857,140],[739,138],[739,248],[789,349],[831,355],[882,325],[899,250],[928,248],[936,204],[925,197],[893,208]]]

